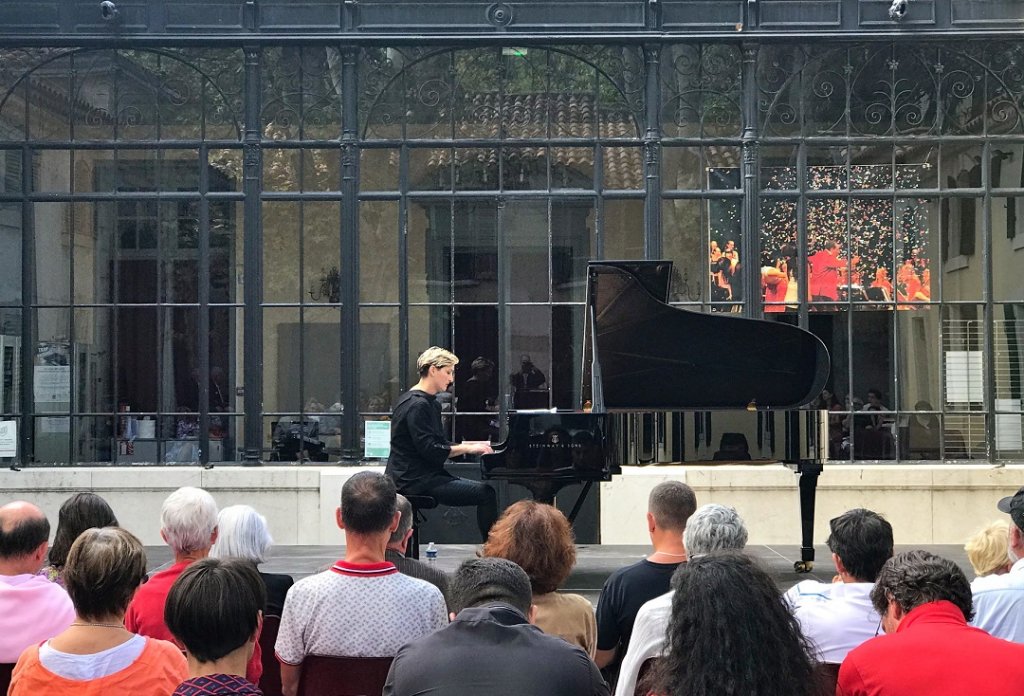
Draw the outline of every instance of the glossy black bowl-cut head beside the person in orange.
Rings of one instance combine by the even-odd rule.
[[[164,621],[200,662],[213,662],[254,641],[266,588],[256,566],[240,558],[193,563],[174,580]]]

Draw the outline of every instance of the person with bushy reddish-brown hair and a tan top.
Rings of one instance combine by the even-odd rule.
[[[575,565],[572,527],[560,510],[536,501],[513,503],[490,528],[483,555],[508,559],[526,571],[537,607],[534,622],[541,630],[594,656],[594,607],[580,595],[555,592]]]

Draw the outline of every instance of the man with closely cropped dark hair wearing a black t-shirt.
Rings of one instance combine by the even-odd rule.
[[[654,552],[613,572],[597,603],[597,666],[605,667],[630,644],[640,607],[669,592],[672,573],[686,560],[683,530],[696,510],[693,489],[682,481],[654,486],[647,498],[647,533]]]

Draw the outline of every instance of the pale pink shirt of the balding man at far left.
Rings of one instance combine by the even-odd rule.
[[[0,662],[17,662],[30,645],[74,620],[75,607],[59,584],[42,575],[0,575]]]

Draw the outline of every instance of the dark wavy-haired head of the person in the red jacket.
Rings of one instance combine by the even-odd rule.
[[[927,551],[905,551],[886,561],[871,589],[871,604],[885,615],[890,600],[904,613],[929,602],[952,602],[970,621],[974,618],[971,583],[959,566]]]

